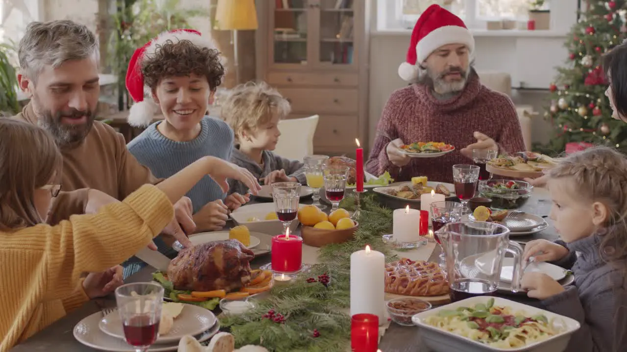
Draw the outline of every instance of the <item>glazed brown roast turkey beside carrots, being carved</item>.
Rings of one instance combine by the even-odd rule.
[[[254,257],[253,251],[234,239],[198,244],[172,259],[167,277],[178,290],[237,291],[250,282]]]

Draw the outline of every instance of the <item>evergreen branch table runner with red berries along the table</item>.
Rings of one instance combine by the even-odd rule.
[[[374,195],[364,197],[359,229],[354,239],[322,247],[320,264],[301,273],[290,284],[275,284],[268,298],[241,315],[220,316],[231,329],[236,345],[258,344],[270,351],[346,351],[350,343],[350,254],[366,245],[382,252],[387,261],[398,259],[382,242],[389,233],[392,210]],[[354,198],[340,205],[354,210]]]

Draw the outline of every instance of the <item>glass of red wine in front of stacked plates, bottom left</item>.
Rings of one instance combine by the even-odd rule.
[[[145,352],[156,341],[161,321],[163,287],[151,282],[125,284],[115,289],[126,342]]]

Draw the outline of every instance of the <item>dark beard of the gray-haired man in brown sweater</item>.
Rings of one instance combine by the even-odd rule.
[[[81,125],[64,125],[61,123],[63,117],[80,118],[81,116],[87,116],[87,122]],[[90,110],[72,109],[70,112],[58,112],[54,116],[50,110],[45,110],[41,112],[41,116],[38,118],[38,125],[50,132],[55,137],[57,145],[63,147],[82,142],[92,130],[94,119],[93,111]]]

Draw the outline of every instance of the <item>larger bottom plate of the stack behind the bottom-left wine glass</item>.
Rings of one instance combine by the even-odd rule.
[[[91,348],[99,349],[100,351],[110,352],[135,352],[136,349],[126,343],[125,340],[114,338],[103,333],[98,325],[102,319],[102,312],[93,313],[83,320],[79,321],[74,327],[73,334],[76,341],[89,346]],[[218,333],[220,329],[220,322],[216,319],[216,323],[207,331],[204,331],[201,335],[194,336],[199,342],[207,341],[212,338],[213,335]],[[179,343],[169,344],[155,344],[148,350],[149,352],[168,352],[176,351],[179,348]]]

